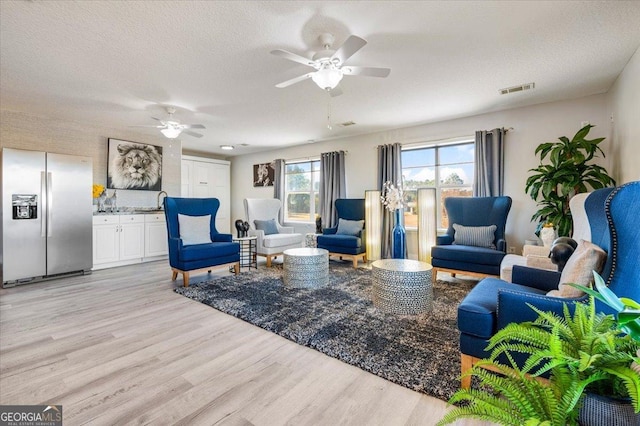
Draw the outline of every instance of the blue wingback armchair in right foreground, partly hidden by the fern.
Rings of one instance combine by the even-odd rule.
[[[620,297],[634,300],[640,299],[639,207],[640,181],[596,190],[584,199],[590,229],[586,233],[574,229],[575,234],[590,235],[591,242],[607,252],[601,275],[609,288]],[[574,205],[572,212],[573,208]],[[574,228],[576,225],[574,220]],[[547,296],[549,290],[558,288],[559,280],[558,272],[514,266],[513,283],[496,278],[480,281],[458,307],[462,372],[489,356],[485,348],[497,330],[512,322],[533,321],[537,317],[527,304],[562,314],[565,303],[571,308],[575,302],[586,300],[586,296]],[[596,309],[611,312],[600,302],[596,302]],[[470,378],[463,378],[462,386],[469,385]]]

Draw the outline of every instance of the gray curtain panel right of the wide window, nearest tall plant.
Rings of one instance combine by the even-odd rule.
[[[504,191],[505,129],[476,132],[474,197],[498,197]]]

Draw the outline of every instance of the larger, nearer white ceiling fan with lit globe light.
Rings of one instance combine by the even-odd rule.
[[[331,49],[331,46],[335,41],[333,35],[324,33],[318,37],[318,40],[320,40],[322,50],[313,55],[313,58],[311,59],[295,53],[287,52],[286,50],[277,49],[271,51],[273,55],[316,69],[315,72],[310,72],[276,84],[276,87],[288,87],[292,84],[310,78],[318,85],[318,87],[328,91],[331,96],[338,96],[342,94],[342,91],[337,86],[345,75],[364,75],[384,78],[391,72],[389,68],[354,67],[345,65],[345,62],[351,56],[367,44],[367,41],[363,38],[351,35],[337,50]]]

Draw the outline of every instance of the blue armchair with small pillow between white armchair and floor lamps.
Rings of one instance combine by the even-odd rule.
[[[357,268],[358,259],[367,261],[364,198],[339,198],[335,207],[338,226],[322,230],[322,235],[317,238],[318,248],[328,250],[329,255],[351,259],[353,267]]]

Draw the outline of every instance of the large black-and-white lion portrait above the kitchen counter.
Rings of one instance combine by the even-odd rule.
[[[109,139],[111,189],[162,189],[162,147]]]

